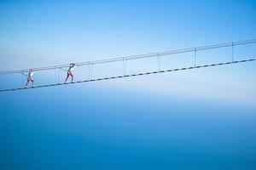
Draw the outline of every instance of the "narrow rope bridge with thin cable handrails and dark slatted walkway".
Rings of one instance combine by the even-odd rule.
[[[245,62],[252,62],[256,59],[253,58],[254,56],[250,56],[252,58],[250,59],[234,59],[234,48],[237,46],[244,46],[248,44],[256,44],[256,39],[253,40],[247,40],[247,41],[241,41],[241,42],[229,42],[229,43],[222,43],[217,45],[210,45],[210,46],[203,46],[203,47],[197,47],[197,48],[184,48],[184,49],[178,49],[178,50],[172,50],[172,51],[166,51],[166,52],[160,52],[160,53],[154,53],[154,54],[142,54],[142,55],[132,55],[127,57],[120,57],[120,58],[113,58],[113,59],[102,59],[102,60],[95,60],[95,61],[89,61],[89,62],[83,62],[83,63],[77,63],[79,67],[87,66],[88,67],[88,77],[85,80],[76,81],[76,82],[69,82],[69,83],[62,83],[60,82],[60,75],[61,71],[67,71],[70,65],[53,65],[53,66],[47,66],[47,67],[38,67],[34,68],[34,71],[55,71],[55,83],[48,83],[44,85],[38,85],[33,88],[46,88],[46,87],[54,87],[54,86],[62,86],[62,85],[68,85],[73,83],[82,83],[82,82],[94,82],[94,81],[102,81],[102,80],[109,80],[109,79],[116,79],[116,78],[123,78],[123,77],[137,77],[137,76],[143,76],[143,75],[150,75],[150,74],[157,74],[157,73],[164,73],[164,72],[172,72],[172,71],[185,71],[185,70],[191,70],[191,69],[199,69],[199,68],[205,68],[205,67],[212,67],[212,66],[218,66],[218,65],[231,65],[231,64],[238,64],[238,63],[245,63]],[[212,63],[207,65],[198,65],[197,64],[197,54],[200,51],[206,51],[210,49],[218,49],[218,48],[229,48],[230,47],[230,59],[227,62],[218,62],[218,63]],[[254,48],[255,49],[255,48]],[[161,58],[165,55],[175,55],[175,54],[185,54],[185,53],[193,53],[193,63],[191,63],[188,67],[182,67],[182,68],[175,68],[175,69],[163,69],[161,68]],[[171,57],[171,56],[168,56]],[[247,56],[249,57],[249,56]],[[129,60],[135,60],[138,59],[149,59],[149,58],[155,58],[156,59],[156,65],[157,69],[156,71],[143,71],[138,72],[136,74],[127,74],[127,61]],[[93,65],[102,65],[105,63],[113,63],[113,62],[122,62],[123,72],[120,76],[107,76],[107,77],[101,77],[101,78],[92,78],[93,76]],[[76,68],[76,69],[79,69]],[[76,70],[75,69],[75,70]],[[14,74],[21,74],[23,77],[27,77],[27,74],[30,69],[23,69],[23,70],[16,70],[16,71],[2,71],[0,72],[0,77],[4,75],[14,75]],[[35,77],[38,73],[35,74]],[[79,75],[78,75],[79,76]],[[1,79],[2,80],[2,79]],[[7,91],[15,91],[15,90],[23,90],[23,89],[30,89],[25,87],[20,88],[3,88],[0,89],[0,92],[7,92]]]

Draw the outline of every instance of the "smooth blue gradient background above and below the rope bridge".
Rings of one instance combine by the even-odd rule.
[[[0,1],[0,23],[7,71],[253,39],[256,1]],[[255,169],[255,71],[2,93],[0,168]]]

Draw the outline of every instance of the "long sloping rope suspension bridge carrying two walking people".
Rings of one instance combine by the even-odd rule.
[[[34,68],[33,70],[36,71],[35,73],[35,82],[38,81],[38,75],[44,74],[44,72],[52,71],[51,73],[54,75],[52,82],[48,83],[42,83],[32,88],[46,88],[46,87],[53,87],[53,86],[62,86],[67,84],[73,84],[73,83],[81,83],[81,82],[94,82],[94,81],[102,81],[102,80],[109,80],[109,79],[117,79],[117,78],[123,78],[123,77],[137,77],[137,76],[143,76],[143,75],[150,75],[150,74],[158,74],[163,72],[172,72],[172,71],[185,71],[185,70],[192,70],[192,69],[199,69],[199,68],[206,68],[206,67],[212,67],[212,66],[218,66],[218,65],[232,65],[232,64],[238,64],[238,63],[245,63],[245,62],[252,62],[255,61],[256,58],[256,39],[253,40],[247,40],[247,41],[240,41],[240,42],[228,42],[228,43],[221,43],[216,45],[209,45],[209,46],[202,46],[202,47],[196,47],[196,48],[184,48],[184,49],[178,49],[178,50],[172,50],[172,51],[166,51],[166,52],[160,52],[160,53],[153,53],[153,54],[141,54],[141,55],[132,55],[127,57],[119,57],[119,58],[113,58],[113,59],[101,59],[101,60],[94,60],[94,61],[88,61],[88,62],[82,62],[82,63],[76,63],[78,66],[74,70],[81,70],[81,74],[75,74],[75,77],[84,76],[83,79],[75,82],[61,82],[62,79],[65,77],[61,75],[65,72],[65,75],[67,75],[67,70],[70,67],[70,65],[53,65],[53,66],[47,66],[47,67],[38,67]],[[253,54],[247,54],[244,53],[247,51],[247,49],[241,50],[243,47],[247,46],[250,48],[250,51],[253,51]],[[239,51],[240,48],[240,51]],[[224,51],[221,49],[225,49]],[[199,54],[202,53],[203,55],[209,55],[212,53],[212,50],[214,50],[214,53],[219,54],[219,51],[225,56],[224,59],[221,59],[222,62],[205,62],[201,63],[202,58],[199,58]],[[235,52],[237,55],[235,55]],[[242,52],[242,53],[241,53]],[[207,54],[209,53],[209,54]],[[182,56],[180,55],[182,54]],[[239,55],[239,56],[238,56]],[[169,60],[172,59],[172,57],[178,57],[180,60],[181,58],[184,58],[188,61],[181,61],[179,64],[186,63],[186,66],[176,67],[172,68],[171,63],[177,62],[177,60],[174,60],[174,62],[170,62]],[[214,56],[216,58],[216,56]],[[133,63],[140,63],[143,61],[143,65],[139,66],[145,66],[147,63],[147,59],[154,59],[153,61],[153,67],[154,69],[151,69],[151,71],[137,71],[130,73],[128,71],[128,66],[130,61]],[[166,60],[166,61],[165,61]],[[212,60],[212,59],[210,59]],[[118,63],[118,71],[114,71],[115,76],[102,76],[102,77],[96,77],[96,70],[93,70],[93,68],[96,68],[97,66],[104,67],[104,65],[108,64],[116,64]],[[165,66],[163,65],[165,64]],[[108,67],[107,70],[102,71],[102,73],[106,73],[109,70],[113,71],[113,65]],[[152,65],[151,65],[152,67]],[[136,68],[136,67],[135,67]],[[98,69],[100,70],[100,69]],[[136,69],[131,69],[136,70]],[[23,70],[16,70],[16,71],[2,71],[0,72],[1,81],[3,81],[3,77],[12,77],[20,75],[22,76],[23,80],[24,77],[28,77],[30,69],[23,69]],[[99,71],[98,71],[99,72]],[[101,71],[100,71],[101,72]],[[86,74],[84,74],[86,73]],[[117,75],[116,75],[117,74]],[[94,77],[95,76],[95,77]],[[3,82],[1,83],[3,84]],[[22,90],[22,89],[30,89],[25,87],[25,83],[22,82],[21,87],[15,87],[15,88],[0,88],[0,92],[7,92],[7,91],[15,91],[15,90]],[[17,85],[19,86],[19,85]]]

